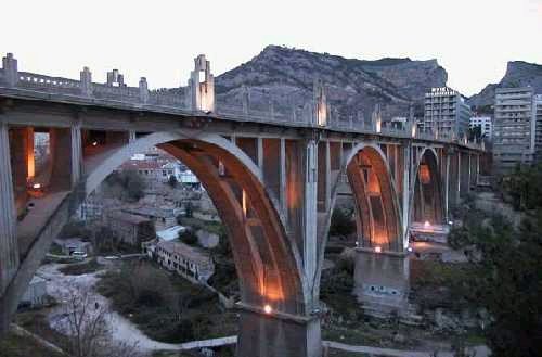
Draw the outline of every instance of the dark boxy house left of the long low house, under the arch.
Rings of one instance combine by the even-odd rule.
[[[153,240],[156,235],[152,220],[121,211],[109,212],[107,225],[119,243],[140,245],[141,242]]]

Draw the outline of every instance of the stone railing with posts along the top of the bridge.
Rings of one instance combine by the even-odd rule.
[[[17,62],[13,55],[8,54],[3,59],[3,67],[0,68],[0,87],[20,88],[33,91],[48,92],[54,94],[67,94],[70,98],[77,97],[81,100],[96,99],[107,101],[119,101],[124,103],[150,105],[151,107],[173,107],[177,110],[191,111],[191,103],[188,101],[186,89],[155,89],[149,90],[146,79],[141,78],[139,87],[128,87],[120,82],[98,84],[91,81],[91,74],[88,68],[81,72],[80,80],[46,76],[29,72],[18,72]],[[118,75],[118,73],[116,73]],[[272,103],[269,107],[250,107],[249,103],[245,105],[231,105],[220,100],[216,101],[212,114],[218,116],[243,119],[246,122],[276,123],[295,126],[318,126],[312,116],[312,106],[294,106],[291,109],[274,107]],[[263,104],[264,105],[264,104]],[[198,112],[198,111],[194,111]],[[379,130],[376,130],[374,123],[366,123],[356,116],[340,115],[337,111],[330,111],[327,125],[331,129],[357,131],[363,133],[385,135],[399,138],[411,138],[409,126],[405,128],[390,127],[388,123],[383,123]],[[416,139],[456,142],[457,144],[479,149],[480,145],[473,142],[462,142],[447,133],[435,136],[430,132],[416,132]]]

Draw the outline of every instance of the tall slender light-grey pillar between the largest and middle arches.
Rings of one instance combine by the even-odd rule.
[[[318,263],[318,142],[310,139],[305,153],[304,267],[312,290]]]

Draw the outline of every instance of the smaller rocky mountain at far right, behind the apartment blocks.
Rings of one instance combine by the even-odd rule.
[[[493,104],[495,89],[500,87],[531,86],[537,93],[542,93],[542,65],[522,61],[508,62],[506,74],[499,84],[488,85],[478,94],[470,97],[468,104],[485,107]]]

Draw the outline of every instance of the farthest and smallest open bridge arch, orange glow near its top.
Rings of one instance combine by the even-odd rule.
[[[442,180],[439,155],[434,148],[425,146],[414,166],[410,192],[409,220],[441,225],[444,221]]]

